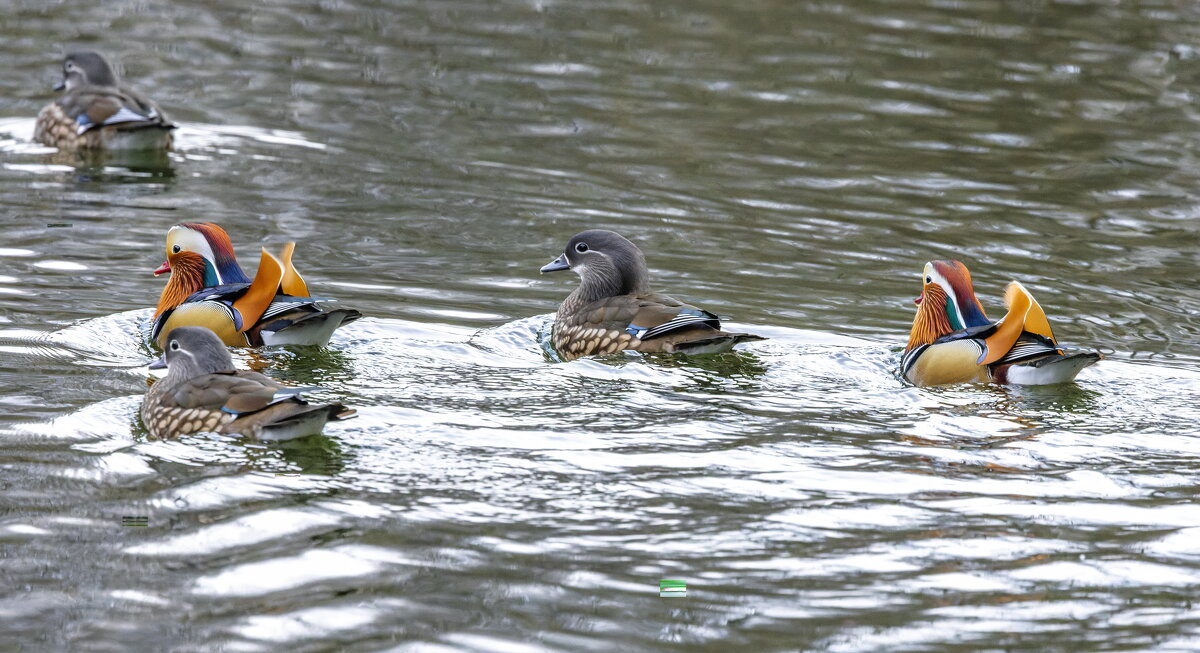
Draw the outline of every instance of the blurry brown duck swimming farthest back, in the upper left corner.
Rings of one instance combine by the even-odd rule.
[[[124,86],[98,53],[62,61],[62,97],[37,114],[34,140],[60,150],[169,150],[175,125],[162,109]]]

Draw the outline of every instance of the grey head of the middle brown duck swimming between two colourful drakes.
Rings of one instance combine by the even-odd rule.
[[[625,236],[606,229],[588,229],[571,236],[558,258],[541,272],[574,270],[580,288],[572,296],[595,301],[607,296],[647,292],[646,256]]]

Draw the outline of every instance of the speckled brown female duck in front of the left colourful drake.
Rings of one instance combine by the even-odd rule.
[[[142,405],[142,423],[155,438],[209,431],[290,439],[354,415],[341,403],[304,401],[300,388],[234,370],[229,351],[203,326],[170,331],[164,349],[167,376],[150,387]]]

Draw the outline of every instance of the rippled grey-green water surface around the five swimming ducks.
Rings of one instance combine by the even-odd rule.
[[[166,164],[29,142],[79,46]],[[1200,648],[1198,48],[1166,1],[10,7],[0,651]],[[146,437],[200,220],[367,316],[236,354],[358,418]],[[558,363],[588,227],[770,340]],[[1105,360],[908,387],[946,257]]]

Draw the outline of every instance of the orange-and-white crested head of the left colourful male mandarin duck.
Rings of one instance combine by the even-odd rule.
[[[250,283],[234,257],[229,234],[211,222],[184,222],[167,232],[167,260],[154,274],[163,272],[170,272],[170,281],[162,289],[155,317],[204,288]]]

